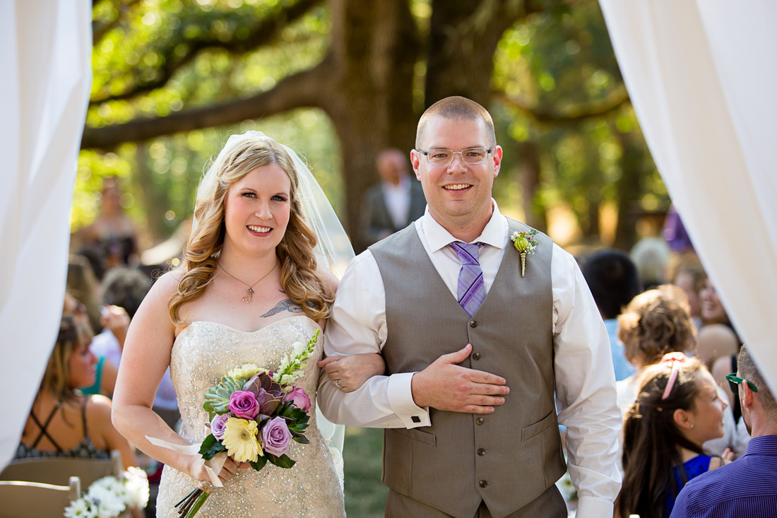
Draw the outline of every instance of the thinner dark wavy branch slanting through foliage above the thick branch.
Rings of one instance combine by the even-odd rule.
[[[142,93],[148,93],[152,90],[165,86],[167,82],[172,78],[180,68],[190,63],[197,57],[200,52],[211,48],[221,48],[231,53],[240,53],[253,50],[264,44],[269,43],[277,34],[280,33],[288,23],[305,16],[305,14],[312,9],[312,7],[322,0],[299,0],[285,9],[280,9],[274,16],[262,19],[250,31],[249,37],[244,40],[239,40],[232,37],[230,40],[220,40],[217,36],[212,34],[206,34],[202,37],[184,39],[183,41],[172,42],[162,51],[162,68],[159,69],[156,77],[148,81],[141,81],[128,86],[124,89],[124,92],[114,95],[96,96],[89,101],[89,106],[93,106],[99,103],[106,103],[111,100],[126,100],[131,99],[134,96],[141,95]],[[185,24],[181,24],[185,26]],[[186,45],[186,54],[178,56],[176,49],[180,45]]]

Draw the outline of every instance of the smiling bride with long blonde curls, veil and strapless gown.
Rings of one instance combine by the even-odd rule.
[[[210,433],[204,390],[244,363],[274,370],[295,341],[308,341],[326,324],[336,292],[326,266],[337,271],[353,257],[304,163],[255,131],[228,139],[200,184],[194,217],[181,268],[159,278],[132,320],[113,398],[117,429],[165,464],[157,516],[176,516],[176,502],[211,478],[200,455],[154,446],[148,437],[201,443]],[[312,408],[321,356],[319,339],[297,383]],[[365,365],[371,374],[383,370],[378,355],[364,355],[360,372]],[[151,409],[168,366],[180,435]],[[319,432],[331,436],[333,425],[316,427],[311,413],[310,443],[291,443],[294,467],[253,471],[228,459],[218,473],[224,487],[213,488],[198,516],[345,516],[339,452]]]

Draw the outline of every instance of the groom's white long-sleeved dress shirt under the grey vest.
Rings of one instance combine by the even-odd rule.
[[[480,249],[479,258],[486,292],[497,276],[505,248],[512,246],[507,219],[496,201],[493,207],[483,233],[472,241],[487,245]],[[434,220],[428,207],[415,224],[424,250],[455,298],[461,262],[448,247],[455,237]],[[615,404],[607,331],[577,262],[556,244],[551,277],[556,406],[559,424],[567,428],[567,466],[580,497],[577,516],[612,516],[621,479],[615,465],[621,415]],[[350,262],[340,281],[326,325],[324,350],[327,356],[379,353],[387,334],[385,288],[375,257],[366,250]],[[450,352],[465,345],[451,344]],[[333,422],[349,426],[428,426],[428,409],[413,402],[413,374],[373,376],[350,393],[336,390],[324,374],[319,384],[319,408]]]

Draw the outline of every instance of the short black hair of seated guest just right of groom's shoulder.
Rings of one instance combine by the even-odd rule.
[[[621,250],[601,250],[588,257],[583,276],[605,320],[618,317],[641,291],[636,265]]]

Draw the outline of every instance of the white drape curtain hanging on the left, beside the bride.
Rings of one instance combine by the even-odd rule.
[[[59,329],[91,23],[89,0],[0,2],[0,469]]]

